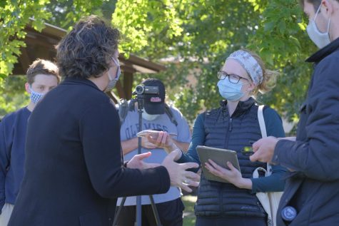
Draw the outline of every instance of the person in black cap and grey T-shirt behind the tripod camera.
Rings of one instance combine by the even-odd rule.
[[[158,88],[158,94],[146,93],[142,87]],[[140,88],[140,90],[138,90]],[[142,130],[163,130],[168,133],[176,133],[173,142],[181,150],[187,150],[191,141],[191,132],[186,119],[177,108],[166,106],[166,91],[163,82],[156,78],[148,78],[137,86],[136,92],[144,93],[144,109],[142,113]],[[133,105],[133,106],[131,106]],[[166,109],[167,108],[167,109]],[[123,115],[123,123],[120,129],[123,158],[131,160],[138,153],[138,111],[136,103],[128,104],[129,111]],[[170,111],[170,112],[168,112]],[[174,121],[174,122],[173,122]],[[166,158],[166,151],[162,147],[150,143],[146,137],[141,138],[142,153],[151,151],[147,163],[161,163]],[[153,195],[158,210],[161,225],[183,225],[183,202],[181,202],[181,191],[177,187],[171,187],[168,192],[161,195]],[[118,199],[120,205],[121,198]],[[151,201],[148,197],[141,197],[142,225],[156,225]],[[118,225],[133,226],[136,216],[136,197],[127,197],[126,202],[118,217]]]

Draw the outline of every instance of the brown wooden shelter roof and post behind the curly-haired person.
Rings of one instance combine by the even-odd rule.
[[[34,30],[31,26],[26,27],[27,35],[24,39],[26,47],[21,48],[19,62],[14,65],[14,75],[26,74],[27,68],[36,58],[55,60],[56,49],[54,46],[66,35],[67,31],[51,24],[45,25],[46,27],[41,32]],[[117,94],[120,98],[131,99],[134,73],[157,73],[166,69],[159,63],[153,63],[133,54],[128,59],[121,54],[118,58],[123,73],[116,83]]]

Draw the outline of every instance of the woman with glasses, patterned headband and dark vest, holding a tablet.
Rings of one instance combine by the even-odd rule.
[[[265,69],[258,55],[248,50],[231,53],[218,72],[218,91],[223,101],[218,108],[198,115],[188,152],[178,152],[175,160],[178,163],[201,164],[197,145],[236,150],[241,173],[231,163],[228,163],[230,170],[213,161],[206,164],[211,173],[229,183],[206,180],[202,174],[195,206],[196,225],[268,224],[267,215],[255,193],[283,191],[285,168],[275,165],[269,177],[253,178],[255,168],[266,168],[266,165],[252,163],[249,155],[243,155],[242,151],[261,138],[258,104],[253,96],[258,91],[268,91],[268,84],[275,75],[275,72]],[[282,120],[276,111],[266,106],[263,116],[268,136],[285,136]],[[148,139],[163,145],[168,152],[178,149],[167,133],[159,133],[156,140]]]

